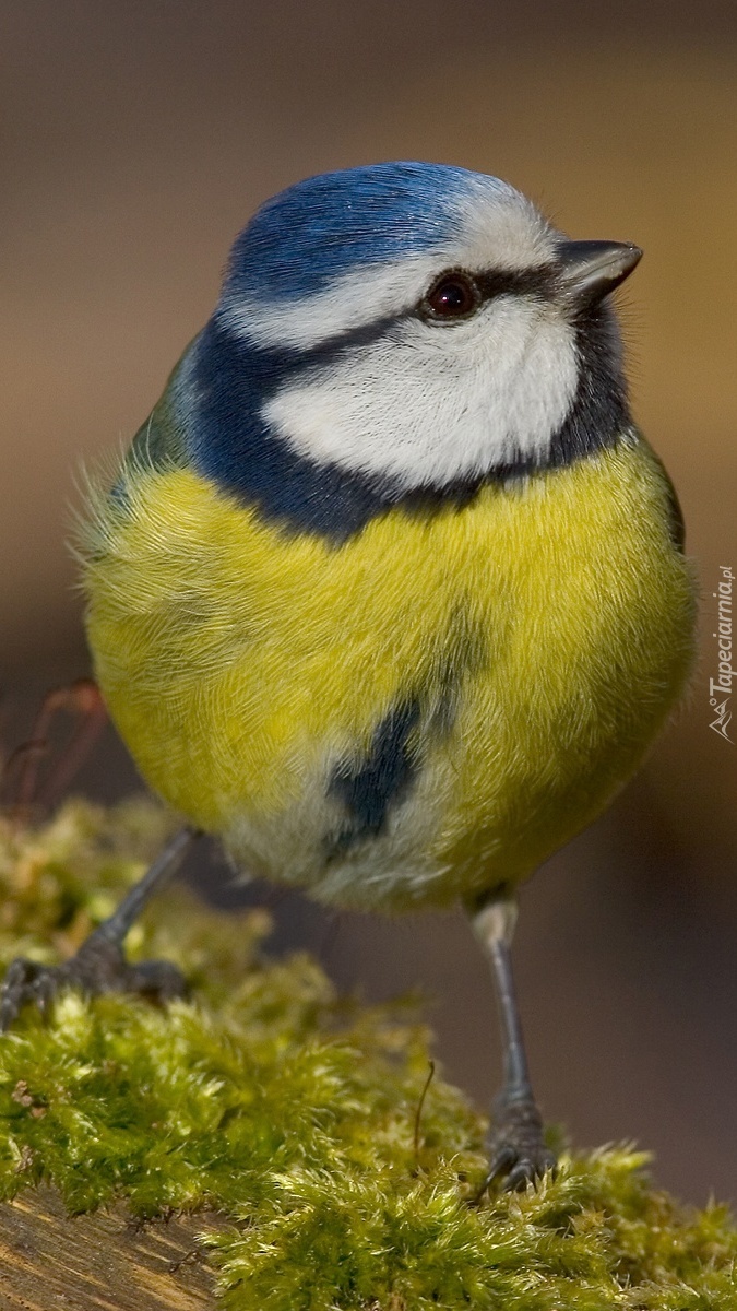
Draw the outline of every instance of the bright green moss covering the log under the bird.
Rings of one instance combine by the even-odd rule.
[[[0,826],[0,958],[55,960],[142,872],[165,817],[68,804]],[[72,1210],[215,1207],[232,1311],[707,1311],[737,1304],[737,1234],[719,1206],[654,1190],[628,1150],[564,1154],[523,1196],[468,1205],[485,1124],[437,1076],[400,1006],[340,1002],[304,954],[269,961],[261,911],[167,894],[131,933],[177,960],[193,1000],[67,995],[0,1040],[0,1193],[45,1181]]]

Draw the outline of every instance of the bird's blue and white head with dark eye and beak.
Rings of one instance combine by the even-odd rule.
[[[201,460],[219,442],[214,472],[229,461],[236,486],[257,431],[266,460],[278,450],[400,499],[606,444],[627,422],[606,298],[640,253],[569,241],[514,187],[462,168],[299,182],[237,237],[199,340]]]

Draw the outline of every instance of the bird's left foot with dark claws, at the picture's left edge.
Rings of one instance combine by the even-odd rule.
[[[117,941],[96,931],[63,965],[39,965],[22,956],[12,961],[0,991],[0,1032],[9,1029],[29,1003],[46,1015],[52,1000],[68,988],[76,988],[85,996],[136,992],[163,1003],[184,996],[186,983],[170,961],[131,965]]]

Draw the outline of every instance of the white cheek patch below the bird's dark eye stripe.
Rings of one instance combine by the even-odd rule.
[[[505,296],[466,323],[410,320],[285,387],[262,417],[313,461],[443,485],[544,458],[577,374],[573,330],[555,307]]]

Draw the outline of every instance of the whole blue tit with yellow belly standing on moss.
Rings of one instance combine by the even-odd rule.
[[[683,520],[612,303],[641,253],[451,164],[257,210],[83,530],[94,676],[185,827],[70,962],[10,966],[3,1028],[62,986],[181,991],[123,939],[211,834],[330,907],[462,905],[504,1045],[484,1188],[555,1168],[515,893],[635,773],[694,662]]]

